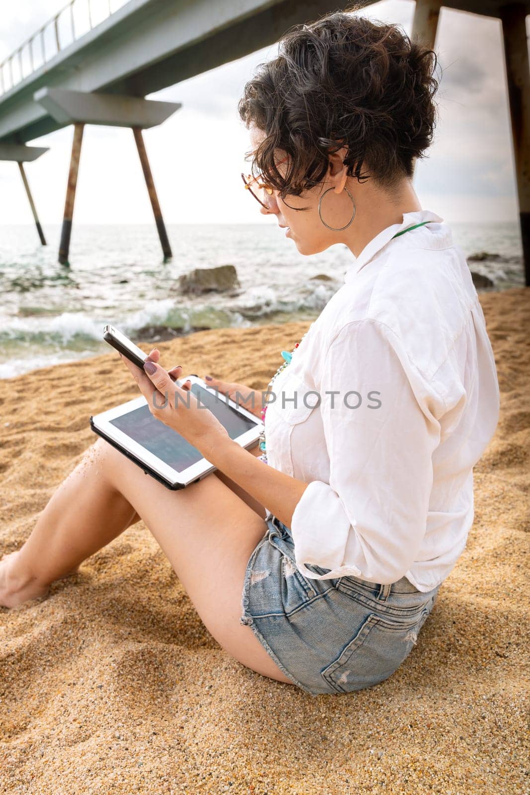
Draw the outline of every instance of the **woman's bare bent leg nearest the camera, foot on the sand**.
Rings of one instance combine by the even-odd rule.
[[[219,645],[258,673],[290,682],[250,626],[239,623],[246,564],[265,534],[264,518],[220,477],[170,491],[101,439],[53,494],[13,564],[0,561],[0,604],[44,595],[137,517]]]

